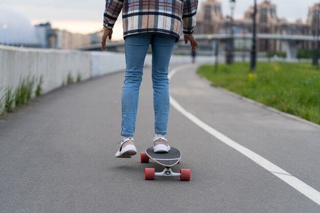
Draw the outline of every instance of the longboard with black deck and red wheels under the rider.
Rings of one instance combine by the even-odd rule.
[[[154,176],[179,176],[180,180],[190,180],[190,169],[180,169],[180,173],[174,173],[171,170],[175,164],[180,162],[181,152],[171,147],[168,153],[154,153],[153,147],[149,147],[140,154],[142,163],[148,163],[149,159],[165,167],[163,172],[155,172],[154,168],[145,168],[145,179],[154,180]]]

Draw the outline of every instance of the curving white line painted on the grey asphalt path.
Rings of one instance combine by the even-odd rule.
[[[168,75],[168,78],[171,79],[172,76],[176,72],[178,72],[184,68],[187,68],[187,67],[190,67],[190,65],[187,65],[187,66],[184,65],[184,66],[180,66],[180,67],[172,69],[172,71]],[[196,117],[195,115],[188,112],[185,108],[183,108],[171,96],[170,96],[170,104],[176,110],[178,110],[181,114],[185,115],[190,121],[195,123],[197,126],[202,128],[203,130],[207,131],[209,134],[213,135],[214,137],[218,138],[224,144],[234,148],[235,150],[242,153],[246,157],[255,161],[257,164],[261,165],[261,167],[263,167],[267,171],[271,172],[273,175],[277,176],[278,178],[280,178],[281,180],[283,180],[284,182],[291,185],[293,188],[295,188],[296,190],[298,190],[299,192],[301,192],[302,194],[307,196],[309,199],[311,199],[312,201],[314,201],[315,203],[320,205],[320,193],[318,191],[316,191],[314,188],[312,188],[311,186],[302,182],[301,180],[294,177],[293,175],[289,174],[288,172],[284,171],[283,169],[281,169],[277,165],[271,163],[269,160],[261,157],[257,153],[255,153],[255,152],[243,147],[242,145],[236,143],[236,141],[228,138],[227,136],[225,136],[221,132],[218,132],[217,130],[215,130],[214,128],[209,126],[208,124],[205,124],[203,121],[198,119],[198,117]]]

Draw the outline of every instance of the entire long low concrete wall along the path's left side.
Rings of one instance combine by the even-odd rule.
[[[145,65],[151,66],[151,55]],[[213,57],[197,58],[197,62],[213,62]],[[171,64],[190,63],[190,56],[172,56]],[[0,45],[0,99],[5,88],[15,90],[20,78],[43,77],[42,93],[61,87],[70,74],[74,80],[99,77],[126,69],[124,53],[84,52],[77,50],[44,50]],[[0,112],[2,109],[0,109]]]

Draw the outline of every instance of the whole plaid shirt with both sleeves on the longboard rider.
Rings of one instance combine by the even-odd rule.
[[[143,32],[192,34],[198,0],[106,0],[103,26],[112,29],[122,10],[123,37]]]

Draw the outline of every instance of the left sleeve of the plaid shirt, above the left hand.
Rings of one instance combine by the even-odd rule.
[[[121,12],[124,0],[106,0],[103,26],[112,29]]]

